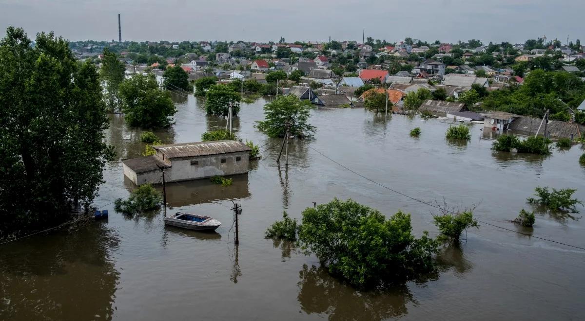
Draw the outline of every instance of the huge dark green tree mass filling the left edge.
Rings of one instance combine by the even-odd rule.
[[[97,70],[68,42],[22,29],[0,41],[0,235],[55,225],[88,207],[113,151]]]

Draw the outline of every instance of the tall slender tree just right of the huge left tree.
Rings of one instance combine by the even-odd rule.
[[[119,111],[120,109],[119,88],[124,81],[125,70],[123,62],[118,61],[116,54],[107,47],[104,48],[99,76],[105,83],[105,97],[110,111]]]

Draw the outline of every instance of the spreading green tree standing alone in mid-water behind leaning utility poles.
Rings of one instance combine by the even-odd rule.
[[[316,128],[308,123],[311,117],[311,103],[296,96],[279,96],[264,105],[264,119],[256,127],[269,137],[284,137],[287,127],[289,134],[297,137],[312,135]]]

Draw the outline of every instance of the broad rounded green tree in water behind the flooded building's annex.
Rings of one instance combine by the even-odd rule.
[[[159,128],[173,123],[177,109],[167,91],[159,88],[153,76],[136,74],[120,85],[122,111],[133,127]]]

